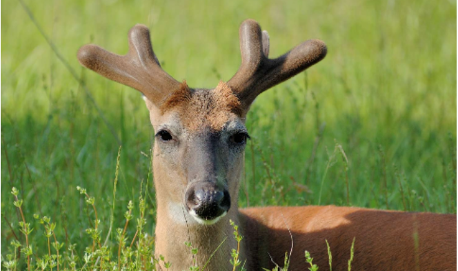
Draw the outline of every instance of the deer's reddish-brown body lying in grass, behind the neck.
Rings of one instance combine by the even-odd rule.
[[[304,251],[329,270],[456,270],[457,217],[452,214],[394,212],[336,206],[268,207],[241,210],[252,269],[273,268],[291,254],[290,269],[306,270]],[[291,235],[290,235],[291,234]],[[292,246],[291,237],[294,245]],[[418,246],[415,245],[416,239]]]

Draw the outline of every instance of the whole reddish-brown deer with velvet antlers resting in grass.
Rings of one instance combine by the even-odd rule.
[[[155,255],[170,261],[169,270],[188,270],[193,261],[206,270],[233,270],[233,221],[243,236],[239,259],[246,270],[275,268],[286,252],[289,270],[307,270],[305,250],[320,270],[330,270],[325,241],[332,270],[347,270],[353,240],[352,270],[456,270],[455,214],[335,205],[239,208],[250,106],[327,53],[323,41],[310,39],[270,59],[269,40],[256,21],[243,21],[241,66],[212,89],[190,88],[166,73],[143,25],[128,32],[126,55],[92,44],[79,49],[83,66],[143,94],[155,131]],[[199,252],[192,255],[186,242]],[[157,268],[165,270],[161,264]]]

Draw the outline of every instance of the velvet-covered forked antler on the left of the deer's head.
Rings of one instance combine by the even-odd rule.
[[[79,49],[78,60],[103,77],[139,90],[159,106],[170,92],[179,88],[180,83],[159,65],[146,26],[137,24],[131,28],[128,39],[129,52],[124,56],[90,44]]]

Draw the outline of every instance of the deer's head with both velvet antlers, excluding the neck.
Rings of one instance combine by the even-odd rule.
[[[239,30],[241,66],[214,89],[190,88],[164,72],[146,26],[134,26],[129,51],[112,54],[83,46],[78,59],[103,77],[139,90],[156,132],[153,171],[159,210],[190,216],[200,224],[217,223],[237,210],[243,150],[250,138],[245,117],[261,92],[295,76],[326,55],[319,40],[308,40],[276,59],[269,59],[269,37],[256,21]],[[187,221],[191,222],[191,221]]]

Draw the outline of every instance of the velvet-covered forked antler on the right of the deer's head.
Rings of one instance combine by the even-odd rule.
[[[323,41],[312,39],[277,59],[268,59],[269,37],[266,31],[261,34],[256,21],[243,21],[239,35],[241,66],[228,85],[246,110],[261,92],[319,62],[327,52]]]

